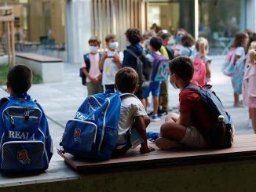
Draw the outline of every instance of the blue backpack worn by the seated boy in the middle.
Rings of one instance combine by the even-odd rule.
[[[115,149],[120,93],[88,96],[68,121],[62,141],[64,152],[91,160],[108,160]]]

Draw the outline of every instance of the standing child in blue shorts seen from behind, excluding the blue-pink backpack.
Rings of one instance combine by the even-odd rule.
[[[159,57],[165,58],[159,52],[162,45],[163,45],[163,41],[161,38],[155,37],[155,38],[152,38],[149,42],[151,54],[148,54],[147,58],[148,58],[148,60],[150,60],[153,63],[152,74],[156,74],[156,70],[157,70],[154,66],[155,61],[159,60]],[[161,82],[155,82],[154,77],[152,77],[152,82],[150,83],[148,88],[145,89],[143,92],[144,99],[142,100],[142,103],[144,104],[145,108],[147,108],[147,106],[148,106],[148,96],[149,96],[150,92],[152,92],[153,103],[154,103],[153,113],[152,113],[152,118],[151,118],[152,121],[160,121],[159,115],[157,114],[158,108],[159,108],[160,84],[161,84]]]

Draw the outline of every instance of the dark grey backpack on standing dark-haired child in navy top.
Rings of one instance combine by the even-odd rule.
[[[144,89],[147,89],[151,82],[152,63],[146,56],[144,56],[144,54],[137,56],[131,49],[126,49],[125,51],[137,59],[137,67],[135,70],[139,76],[139,90],[143,91]]]

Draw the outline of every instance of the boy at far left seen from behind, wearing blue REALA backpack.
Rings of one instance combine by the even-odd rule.
[[[49,128],[46,114],[44,114],[42,107],[38,103],[36,103],[36,101],[31,100],[31,96],[27,94],[28,89],[31,88],[31,82],[32,72],[30,68],[24,65],[16,65],[13,68],[10,68],[6,83],[7,92],[9,92],[10,96],[8,99],[5,98],[0,100],[0,114],[2,117],[0,118],[0,136],[2,137],[0,145],[2,147],[3,143],[7,144],[8,141],[13,140],[17,142],[16,147],[12,145],[12,147],[14,147],[13,149],[11,146],[9,146],[8,148],[9,152],[16,150],[15,157],[11,158],[11,156],[14,154],[9,152],[6,153],[6,150],[4,152],[3,147],[1,151],[2,155],[5,154],[5,158],[7,159],[16,158],[17,163],[21,163],[21,165],[25,166],[24,171],[29,170],[29,168],[31,167],[33,168],[33,166],[35,170],[36,165],[38,165],[38,170],[48,168],[48,163],[53,155],[52,139],[51,136],[49,136]],[[28,107],[28,105],[31,105],[33,107]],[[8,118],[11,119],[11,125],[8,121]],[[4,119],[7,119],[8,123],[4,121]],[[40,121],[38,121],[39,119]],[[40,132],[38,130],[40,130]],[[6,135],[6,132],[9,132],[9,135]],[[40,138],[43,138],[45,142],[45,151],[43,151],[42,148],[38,147],[37,141],[40,142]],[[29,140],[33,140],[33,142],[35,142],[35,145],[32,143],[27,144]],[[20,142],[20,144],[18,143],[18,141]],[[22,150],[19,151],[20,148]],[[38,156],[38,153],[35,154],[35,148],[38,153],[42,152],[43,157],[41,156],[40,158]],[[29,154],[27,151],[29,151]],[[17,153],[19,155],[18,158]],[[46,162],[42,158],[46,158],[48,159],[48,161]],[[4,158],[2,158],[2,164],[3,159]],[[30,164],[30,162],[31,166],[28,165]],[[12,160],[11,166],[14,163],[15,161]],[[42,163],[43,168],[42,165],[39,165],[38,163]],[[8,167],[8,169],[12,168],[13,167]],[[15,171],[21,170],[16,169]]]

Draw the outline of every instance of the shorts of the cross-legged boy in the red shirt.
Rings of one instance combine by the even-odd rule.
[[[207,148],[207,142],[203,138],[202,134],[198,129],[192,126],[187,127],[185,136],[179,143],[191,148]]]

